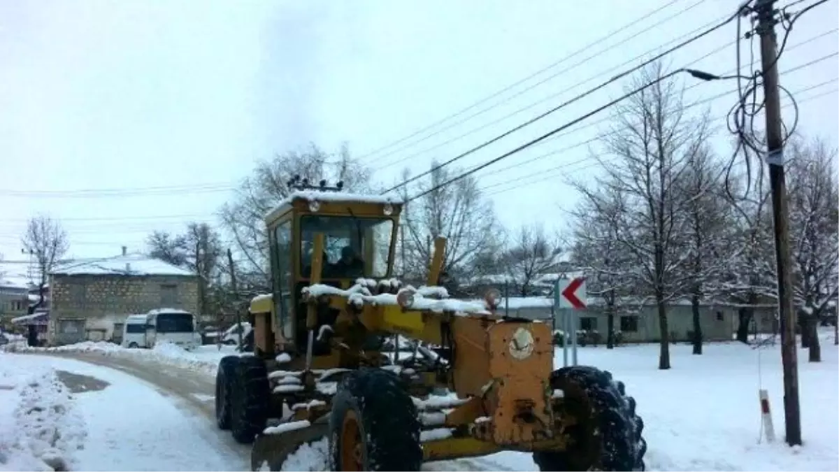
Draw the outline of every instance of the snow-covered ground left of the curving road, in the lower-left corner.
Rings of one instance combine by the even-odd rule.
[[[210,426],[132,375],[0,354],[0,469],[246,470],[247,458]]]

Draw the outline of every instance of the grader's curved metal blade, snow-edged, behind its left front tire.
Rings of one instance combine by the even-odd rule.
[[[251,449],[251,470],[280,472],[285,459],[300,446],[326,438],[328,427],[326,422],[320,422],[284,433],[259,435]],[[264,464],[268,464],[268,469],[264,468]]]

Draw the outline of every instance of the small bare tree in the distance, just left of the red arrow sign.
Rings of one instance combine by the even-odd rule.
[[[545,233],[539,223],[519,228],[512,244],[503,254],[503,265],[509,280],[521,296],[534,295],[534,281],[557,265],[562,253],[558,238]]]

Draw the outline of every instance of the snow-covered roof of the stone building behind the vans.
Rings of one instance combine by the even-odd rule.
[[[57,267],[54,275],[195,275],[189,270],[144,254],[86,260]]]

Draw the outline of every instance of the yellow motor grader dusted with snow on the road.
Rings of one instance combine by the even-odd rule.
[[[273,294],[250,305],[253,352],[221,359],[216,420],[254,471],[304,444],[340,472],[512,450],[542,472],[644,470],[635,401],[607,371],[554,370],[550,327],[393,278],[402,204],[341,184],[296,186],[266,216]],[[418,284],[419,285],[419,284]],[[320,443],[320,444],[318,444]]]

